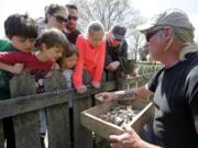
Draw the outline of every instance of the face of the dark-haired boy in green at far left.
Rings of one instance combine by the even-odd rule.
[[[19,49],[20,52],[31,52],[34,47],[35,38],[25,38],[22,36],[12,36],[10,38],[12,46]]]

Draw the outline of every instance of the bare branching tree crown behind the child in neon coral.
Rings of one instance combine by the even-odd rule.
[[[139,14],[129,0],[72,0],[78,5],[79,27],[85,31],[90,21],[100,21],[106,30],[114,24],[130,26]],[[139,14],[140,15],[140,14]]]

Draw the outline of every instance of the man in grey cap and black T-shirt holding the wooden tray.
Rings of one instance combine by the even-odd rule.
[[[164,67],[141,88],[103,92],[96,99],[138,100],[154,94],[154,118],[141,137],[131,127],[111,135],[112,148],[198,148],[198,46],[193,24],[184,11],[169,9],[138,30],[145,35],[151,56]]]

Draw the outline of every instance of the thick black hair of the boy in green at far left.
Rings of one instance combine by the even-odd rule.
[[[26,38],[37,37],[38,26],[35,20],[28,14],[12,14],[4,21],[7,37],[22,36]]]

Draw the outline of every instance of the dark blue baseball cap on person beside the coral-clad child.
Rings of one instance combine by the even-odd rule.
[[[111,32],[113,38],[122,41],[124,38],[127,29],[124,26],[114,25]]]

